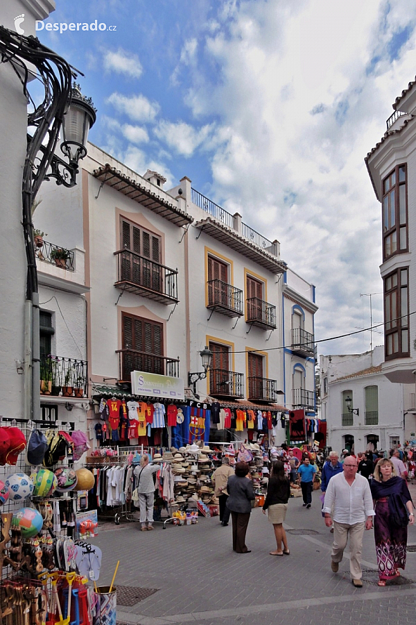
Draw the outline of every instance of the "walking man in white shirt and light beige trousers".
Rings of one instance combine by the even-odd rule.
[[[343,473],[333,476],[329,481],[323,512],[327,527],[331,527],[333,520],[331,569],[334,573],[338,571],[349,538],[349,570],[352,583],[356,588],[361,588],[364,528],[367,530],[372,528],[372,517],[375,512],[368,481],[357,474],[357,469],[356,458],[347,456],[343,464]]]

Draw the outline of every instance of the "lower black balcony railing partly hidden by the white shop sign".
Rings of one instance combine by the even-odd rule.
[[[144,371],[179,378],[179,359],[167,358],[147,351],[137,349],[118,349],[120,380],[131,382],[132,371]]]

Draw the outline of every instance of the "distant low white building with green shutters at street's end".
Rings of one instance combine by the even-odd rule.
[[[321,417],[334,451],[388,450],[415,432],[415,395],[383,374],[383,346],[360,354],[320,356]],[[414,390],[414,389],[413,389]],[[405,429],[406,428],[406,429]]]

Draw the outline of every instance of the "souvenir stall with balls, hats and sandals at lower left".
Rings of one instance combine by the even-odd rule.
[[[72,425],[0,421],[0,623],[100,625],[104,604],[115,621],[101,550],[83,540],[96,531],[82,518],[94,477],[73,469],[86,437]]]

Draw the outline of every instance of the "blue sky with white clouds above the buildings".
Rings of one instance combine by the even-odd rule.
[[[382,321],[381,209],[364,157],[415,79],[416,0],[56,0],[38,33],[85,73],[92,142],[182,176],[316,286],[318,340]],[[166,185],[166,188],[167,185]],[[374,332],[374,344],[383,337]],[[370,349],[370,333],[320,353]]]

